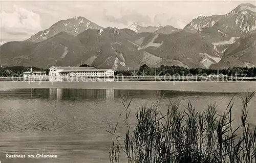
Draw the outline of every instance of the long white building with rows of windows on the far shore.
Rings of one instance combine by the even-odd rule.
[[[111,77],[115,72],[113,69],[96,69],[95,67],[51,66],[49,70],[49,76],[53,77]]]

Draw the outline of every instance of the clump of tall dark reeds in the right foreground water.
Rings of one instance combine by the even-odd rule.
[[[218,114],[216,104],[197,112],[189,102],[180,110],[180,101],[171,102],[167,113],[159,112],[164,95],[158,91],[154,105],[143,105],[136,115],[136,124],[131,129],[129,106],[132,100],[123,95],[125,124],[127,131],[120,143],[115,127],[108,131],[114,138],[110,148],[110,162],[119,162],[120,149],[128,163],[252,163],[256,162],[256,127],[247,122],[247,105],[255,91],[248,92],[242,99],[241,125],[234,128],[232,118],[233,98],[223,114]],[[255,108],[253,108],[255,109]],[[238,134],[238,130],[242,130]]]

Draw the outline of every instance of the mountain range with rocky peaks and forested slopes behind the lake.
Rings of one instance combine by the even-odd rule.
[[[199,16],[184,29],[173,26],[103,28],[84,17],[60,20],[25,41],[0,46],[3,66],[48,68],[94,65],[227,68],[256,65],[256,7],[241,4],[225,15]]]

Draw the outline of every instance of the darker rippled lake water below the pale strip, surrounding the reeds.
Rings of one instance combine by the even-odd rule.
[[[132,88],[131,88],[132,89]],[[132,100],[134,113],[143,104],[155,102],[156,90],[120,89],[5,89],[0,90],[0,160],[1,162],[109,162],[111,136],[105,130],[118,123],[117,134],[124,135],[122,91]],[[224,90],[223,90],[224,91]],[[181,109],[190,100],[198,111],[217,102],[225,110],[234,93],[163,90],[161,111],[167,109],[168,98],[181,100]],[[244,94],[244,93],[243,93]],[[234,97],[233,118],[240,122],[242,105]],[[256,124],[256,100],[250,102],[249,122]],[[6,154],[56,154],[58,158],[5,158]],[[122,155],[123,157],[123,155]]]

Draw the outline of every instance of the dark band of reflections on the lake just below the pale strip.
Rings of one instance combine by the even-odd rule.
[[[82,100],[105,99],[114,100],[121,97],[122,93],[129,94],[133,98],[155,98],[156,90],[119,90],[119,89],[6,89],[0,90],[0,98],[4,99],[45,99],[45,100]],[[231,96],[232,93],[220,92],[191,92],[162,90],[165,97],[177,96]]]

